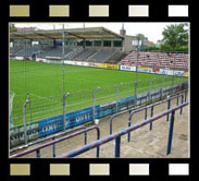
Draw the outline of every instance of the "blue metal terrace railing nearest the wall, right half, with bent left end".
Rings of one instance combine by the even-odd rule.
[[[183,90],[183,92],[181,92],[181,93],[186,93],[187,90]],[[179,94],[179,93],[178,93]],[[181,94],[182,95],[182,94]],[[173,95],[172,95],[173,96]],[[177,95],[176,96],[173,96],[173,97],[171,97],[170,96],[170,99],[173,99],[173,98],[176,98],[177,97]],[[185,97],[186,98],[186,97]],[[156,104],[153,104],[153,105],[158,105],[159,102],[161,104],[161,102],[164,102],[164,101],[166,101],[167,100],[167,98],[166,99],[164,99],[164,100],[161,100],[161,101],[158,101],[158,102],[156,102]],[[119,116],[121,116],[121,114],[123,114],[123,113],[126,113],[126,112],[129,112],[129,114],[130,114],[130,111],[134,111],[135,109],[137,110],[137,109],[141,109],[141,110],[144,110],[146,107],[150,107],[150,106],[146,106],[146,105],[144,105],[144,106],[138,106],[138,107],[136,107],[136,108],[132,108],[132,109],[128,109],[128,110],[124,110],[124,111],[122,111],[122,112],[119,112],[119,113],[115,113],[115,114],[113,114],[111,118],[110,118],[110,134],[112,134],[112,121],[113,121],[113,118],[115,118],[115,117],[119,117]],[[169,106],[167,106],[167,109],[170,109],[170,102],[169,102]],[[147,110],[146,110],[146,113],[145,113],[145,118],[147,119]],[[169,116],[167,116],[169,117]]]

